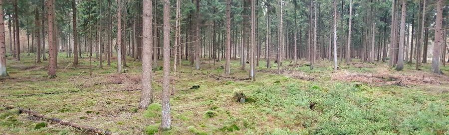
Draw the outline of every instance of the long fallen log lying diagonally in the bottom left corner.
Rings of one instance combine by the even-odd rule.
[[[61,119],[58,119],[58,118],[52,118],[52,117],[45,116],[45,115],[39,114],[37,112],[31,111],[31,110],[28,110],[28,109],[23,109],[23,108],[20,108],[20,107],[15,107],[15,106],[10,106],[10,105],[0,105],[0,106],[3,106],[5,108],[7,108],[7,109],[14,109],[14,108],[16,108],[16,109],[19,110],[20,113],[26,113],[26,114],[31,115],[33,117],[36,117],[36,118],[39,118],[39,119],[42,119],[42,120],[45,120],[45,121],[49,121],[50,123],[57,123],[57,124],[60,124],[60,125],[70,126],[70,127],[73,127],[73,128],[79,129],[79,130],[84,130],[84,131],[92,132],[92,133],[99,134],[99,135],[118,135],[117,133],[112,133],[112,132],[109,132],[109,131],[106,131],[106,130],[102,130],[102,129],[98,129],[98,128],[94,128],[94,127],[89,127],[89,126],[84,126],[84,125],[78,125],[78,124],[71,123],[71,122],[68,122],[68,121],[64,121],[64,120],[61,120]]]

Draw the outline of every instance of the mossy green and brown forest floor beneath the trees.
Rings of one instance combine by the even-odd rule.
[[[172,126],[157,131],[161,121],[162,70],[154,73],[155,103],[138,110],[141,63],[128,58],[126,73],[116,74],[116,59],[99,68],[88,59],[72,66],[65,53],[58,56],[57,78],[47,78],[47,62],[34,65],[33,56],[11,57],[11,77],[0,79],[0,104],[19,106],[46,116],[96,127],[120,135],[304,135],[304,134],[449,134],[449,76],[430,73],[430,64],[415,70],[407,64],[396,71],[387,63],[332,63],[320,60],[310,69],[306,61],[286,61],[257,67],[255,81],[245,80],[238,60],[231,61],[231,75],[224,75],[224,61],[202,60],[201,70],[182,61],[172,83]],[[162,65],[159,61],[158,66]],[[173,66],[173,61],[172,61]],[[247,66],[248,67],[248,66]],[[449,74],[449,66],[442,67]],[[172,72],[173,75],[173,72]],[[190,89],[200,85],[198,89]],[[173,85],[171,85],[173,87]],[[130,90],[130,91],[116,91]],[[42,95],[20,94],[56,92]],[[233,99],[245,94],[245,103]],[[156,131],[155,131],[156,129]],[[45,124],[18,110],[0,109],[1,135],[85,135],[58,124]]]

